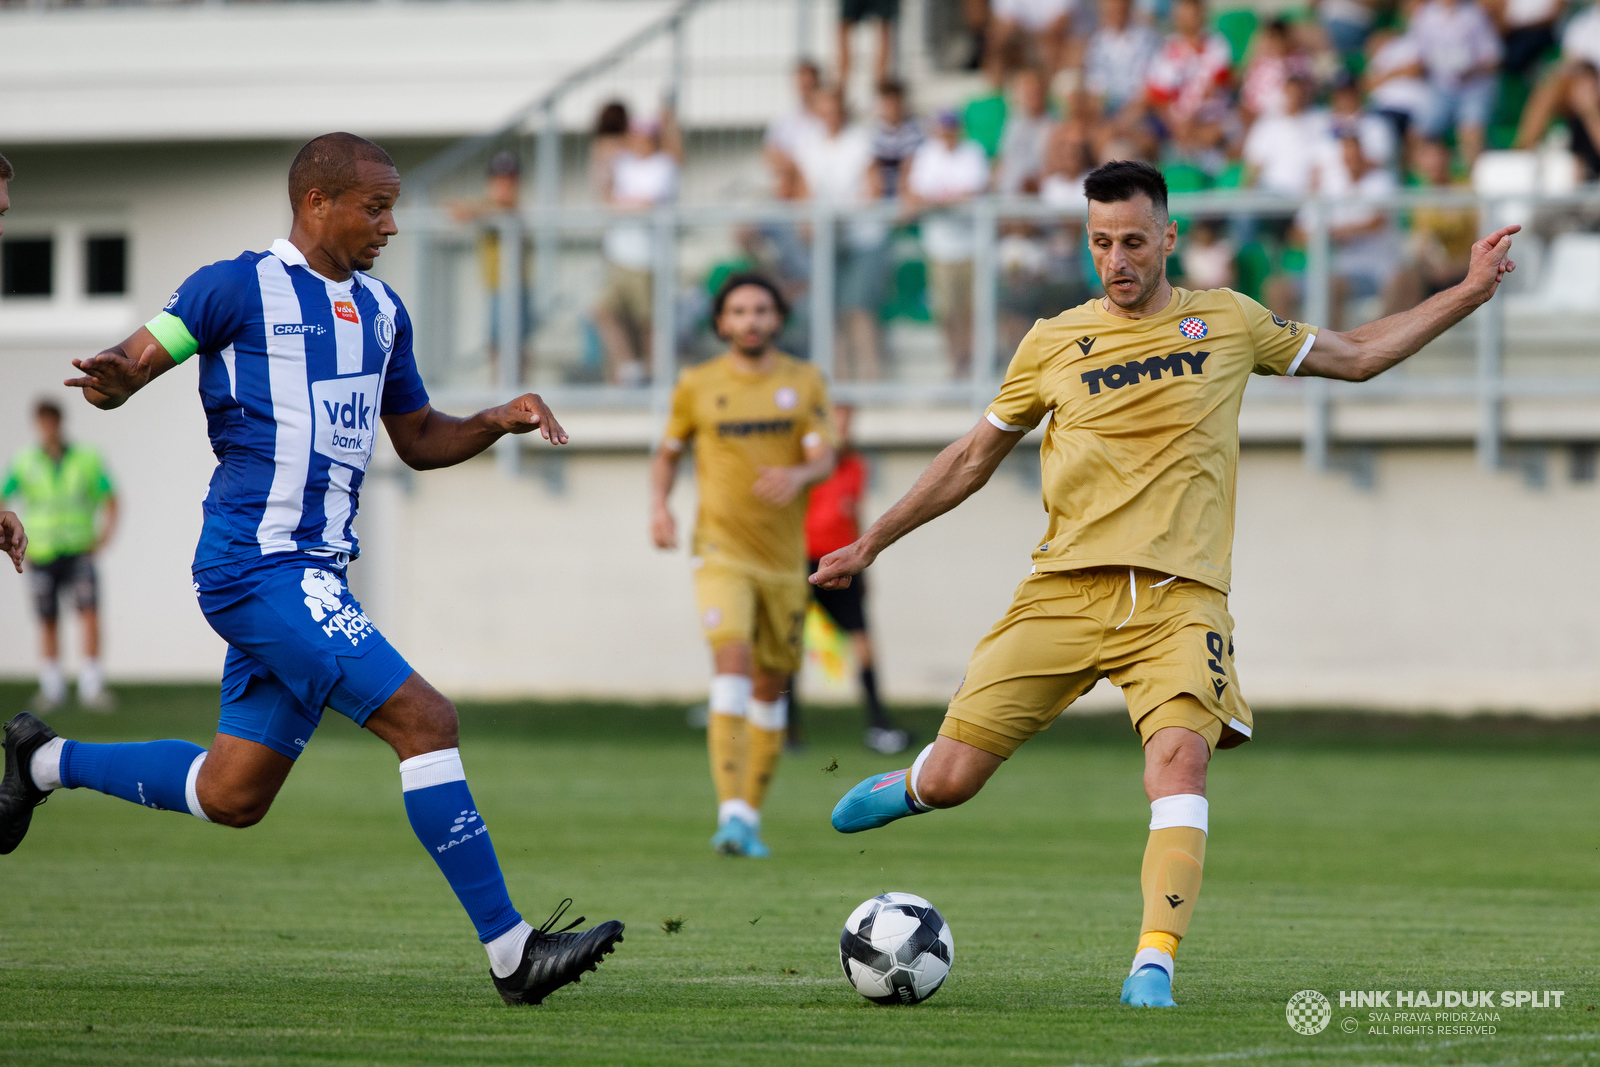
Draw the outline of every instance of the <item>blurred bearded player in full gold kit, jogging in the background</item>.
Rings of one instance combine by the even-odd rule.
[[[827,386],[810,363],[773,347],[787,307],[768,278],[730,277],[712,302],[728,350],[683,371],[650,469],[650,533],[675,549],[667,507],[678,456],[694,442],[699,515],[694,598],[710,643],[706,739],[717,787],[712,848],[770,856],[762,801],[789,725],[789,678],[800,670],[810,603],[806,488],[834,469]]]

